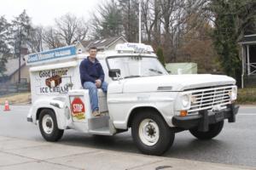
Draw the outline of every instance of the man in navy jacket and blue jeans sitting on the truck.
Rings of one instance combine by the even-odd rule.
[[[84,59],[80,66],[80,78],[82,86],[89,89],[90,105],[93,116],[100,116],[97,88],[102,88],[104,93],[107,93],[108,83],[104,82],[104,71],[101,63],[96,59],[96,47],[89,49],[89,56]]]

